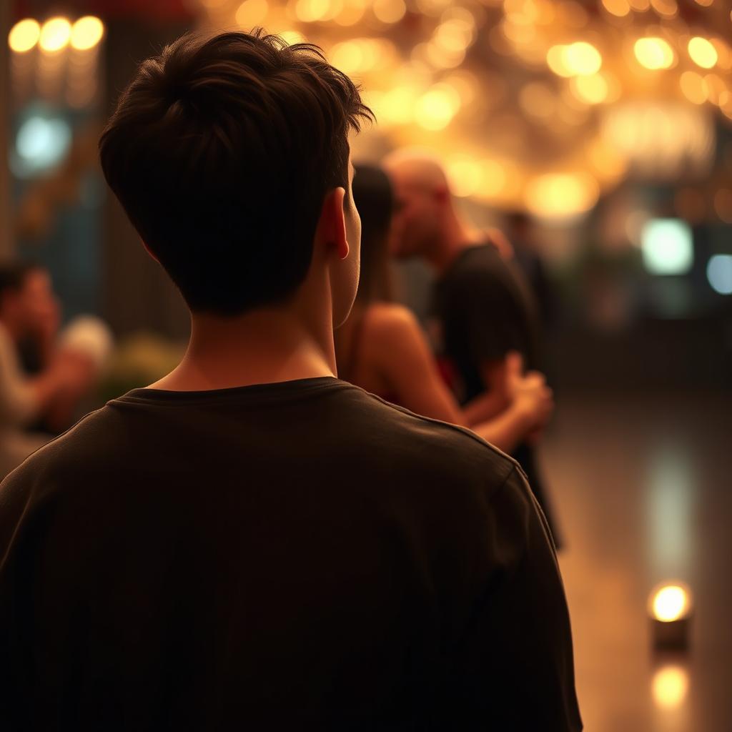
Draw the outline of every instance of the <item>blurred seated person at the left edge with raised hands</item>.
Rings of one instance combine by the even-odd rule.
[[[72,409],[89,389],[94,359],[78,348],[59,348],[59,305],[48,272],[35,264],[0,266],[0,474],[7,474],[50,436],[24,428],[45,421],[70,425]],[[26,376],[20,349],[34,343],[40,368]]]

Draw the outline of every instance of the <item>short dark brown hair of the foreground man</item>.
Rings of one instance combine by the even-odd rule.
[[[102,169],[191,310],[237,315],[305,280],[324,197],[348,188],[348,132],[368,116],[313,45],[189,35],[141,64]]]

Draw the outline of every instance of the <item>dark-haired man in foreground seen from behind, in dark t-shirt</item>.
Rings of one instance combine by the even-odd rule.
[[[368,116],[262,31],[183,37],[122,94],[102,170],[190,343],[0,486],[4,732],[581,728],[518,465],[334,376]]]

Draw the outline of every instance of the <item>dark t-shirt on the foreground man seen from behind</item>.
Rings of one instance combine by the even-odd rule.
[[[111,401],[0,556],[4,731],[581,728],[520,468],[334,378]]]

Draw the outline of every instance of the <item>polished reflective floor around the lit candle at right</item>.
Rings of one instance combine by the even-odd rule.
[[[559,395],[542,460],[587,732],[732,732],[732,392]],[[693,592],[690,650],[651,650],[649,592]]]

